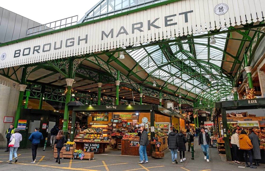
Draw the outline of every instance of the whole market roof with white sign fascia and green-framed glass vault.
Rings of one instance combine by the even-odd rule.
[[[95,78],[104,73],[109,76],[106,82],[122,81],[128,97],[132,90],[143,89],[149,97],[190,106],[200,100],[231,99],[245,49],[251,45],[253,50],[263,34],[254,28],[264,27],[265,2],[222,2],[103,0],[80,24],[0,44],[0,68],[5,68],[0,73],[30,66],[29,82],[62,87],[65,81],[55,79],[60,77],[55,72],[73,58],[78,90],[96,89]],[[51,61],[55,70],[49,68]],[[47,81],[51,78],[54,81]]]

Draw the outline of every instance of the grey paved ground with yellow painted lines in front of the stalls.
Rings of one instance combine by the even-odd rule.
[[[197,142],[197,138],[195,139]],[[139,165],[138,156],[122,156],[120,151],[107,149],[105,154],[94,155],[94,160],[70,160],[61,159],[61,164],[55,163],[53,159],[52,148],[42,151],[38,149],[35,164],[31,164],[31,149],[18,150],[19,161],[16,164],[7,164],[9,160],[8,153],[0,151],[0,170],[23,170],[23,171],[39,171],[39,170],[182,170],[182,171],[210,171],[210,170],[253,170],[249,168],[238,168],[233,162],[224,161],[225,156],[218,155],[217,148],[210,148],[210,162],[204,160],[198,144],[195,144],[195,160],[191,160],[191,153],[185,152],[186,161],[183,163],[172,164],[171,154],[169,150],[165,150],[163,159],[149,158],[148,164]],[[179,157],[179,154],[178,154]],[[179,161],[179,159],[178,159]],[[261,165],[258,169],[264,170],[265,165]]]

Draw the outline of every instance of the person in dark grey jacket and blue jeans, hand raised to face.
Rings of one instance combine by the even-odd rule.
[[[141,126],[140,130],[142,131],[142,134],[140,136],[140,147],[139,147],[140,161],[138,162],[138,164],[143,164],[143,163],[148,163],[146,147],[148,146],[149,141],[148,141],[147,132],[145,130],[145,126]]]

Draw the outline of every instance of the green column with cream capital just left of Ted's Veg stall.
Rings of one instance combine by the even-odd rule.
[[[66,78],[65,81],[67,83],[67,92],[66,92],[66,98],[65,98],[63,131],[64,131],[65,137],[67,138],[67,136],[68,136],[68,121],[69,121],[69,107],[67,104],[70,102],[70,99],[71,99],[71,90],[72,90],[74,79]]]

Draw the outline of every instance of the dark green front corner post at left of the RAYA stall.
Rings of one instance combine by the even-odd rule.
[[[222,114],[223,133],[224,133],[223,140],[224,140],[224,147],[226,149],[226,161],[232,161],[225,108],[221,108],[221,114]]]

